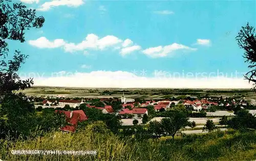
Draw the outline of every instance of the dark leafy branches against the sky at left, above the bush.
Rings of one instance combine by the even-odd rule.
[[[7,39],[25,42],[25,31],[41,28],[44,22],[44,17],[36,17],[35,10],[27,9],[22,3],[12,4],[10,0],[0,0],[0,96],[2,98],[13,90],[23,90],[33,84],[32,79],[20,80],[16,73],[28,56],[15,50],[13,60],[6,60],[9,52]]]

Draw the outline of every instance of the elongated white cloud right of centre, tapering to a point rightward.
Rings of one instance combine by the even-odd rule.
[[[157,46],[144,49],[142,52],[152,58],[172,56],[177,50],[197,50],[182,44],[173,43],[166,46]]]

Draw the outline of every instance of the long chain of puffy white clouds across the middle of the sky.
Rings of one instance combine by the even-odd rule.
[[[134,44],[130,39],[124,41],[113,35],[107,35],[99,38],[95,34],[88,34],[80,43],[68,42],[63,39],[48,40],[46,37],[40,37],[36,40],[29,40],[29,44],[39,48],[56,48],[62,47],[66,52],[83,51],[84,55],[88,55],[88,50],[119,50],[120,55],[124,56],[136,50],[141,50],[141,46]],[[197,48],[191,48],[182,44],[173,43],[166,46],[150,47],[142,50],[142,52],[152,58],[173,56],[175,51],[193,51]]]

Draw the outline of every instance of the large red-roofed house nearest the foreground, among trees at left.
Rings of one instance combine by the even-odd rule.
[[[65,127],[61,127],[60,130],[62,131],[68,131],[68,132],[75,132],[76,126],[78,122],[86,121],[88,120],[88,117],[82,110],[75,110],[75,111],[55,111],[55,113],[63,113],[66,115],[67,121],[70,123],[70,125],[66,125]]]

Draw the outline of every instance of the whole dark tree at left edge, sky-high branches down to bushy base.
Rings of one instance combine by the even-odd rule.
[[[15,50],[13,59],[7,60],[7,41],[25,42],[25,31],[41,28],[44,22],[44,17],[36,17],[35,10],[27,9],[22,3],[0,0],[0,138],[8,133],[16,137],[27,136],[35,120],[34,105],[27,101],[27,96],[13,92],[33,84],[32,79],[22,81],[17,74],[28,56]]]

